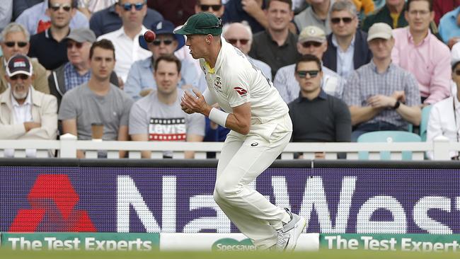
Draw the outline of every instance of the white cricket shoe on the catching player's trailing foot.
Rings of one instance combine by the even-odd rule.
[[[291,220],[284,224],[282,229],[277,230],[277,251],[294,251],[297,245],[297,239],[299,239],[299,236],[302,231],[304,231],[306,225],[304,218],[289,212],[289,209],[286,209],[286,212],[291,217]]]

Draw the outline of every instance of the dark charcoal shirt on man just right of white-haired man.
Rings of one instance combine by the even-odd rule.
[[[297,35],[289,32],[286,41],[279,46],[268,31],[257,33],[254,35],[249,56],[267,63],[272,68],[272,77],[275,77],[280,67],[293,64],[299,58]]]

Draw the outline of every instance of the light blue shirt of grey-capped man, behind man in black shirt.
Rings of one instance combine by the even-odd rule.
[[[300,86],[294,76],[295,66],[295,64],[291,64],[280,68],[273,81],[278,92],[280,92],[281,98],[286,103],[290,103],[299,98]],[[321,70],[323,71],[323,79],[321,80],[321,88],[323,91],[330,96],[335,96],[339,99],[342,98],[345,79],[327,67],[321,66]]]

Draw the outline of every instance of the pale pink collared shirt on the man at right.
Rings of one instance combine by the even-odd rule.
[[[393,30],[393,38],[395,45],[391,59],[415,76],[420,96],[427,97],[425,103],[437,103],[450,96],[449,47],[430,31],[420,44],[415,45],[408,27]]]

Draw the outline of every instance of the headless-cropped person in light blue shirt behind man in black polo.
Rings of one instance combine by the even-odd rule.
[[[53,5],[67,4],[69,3],[71,8],[71,18],[69,22],[69,27],[71,29],[76,28],[88,28],[89,22],[86,16],[81,13],[81,11],[76,10],[76,0],[63,1],[63,0],[45,0],[40,4],[36,4],[23,11],[21,15],[16,19],[16,23],[21,23],[27,28],[30,35],[35,35],[36,33],[42,33],[52,24],[52,19],[50,18],[50,8]],[[66,18],[67,19],[67,18]]]

